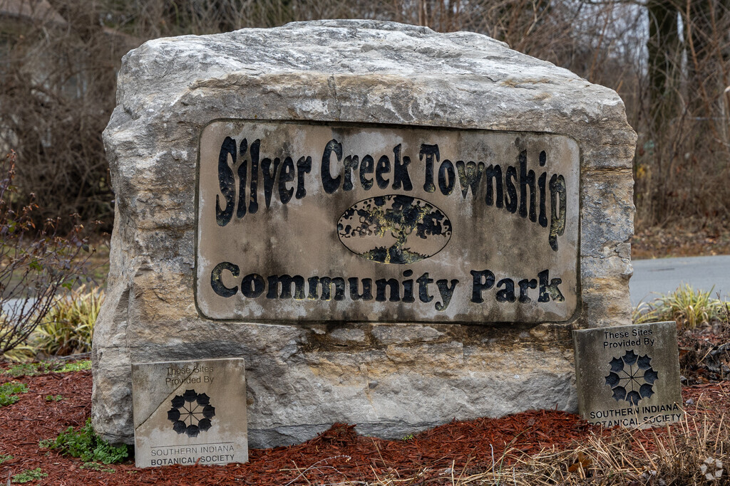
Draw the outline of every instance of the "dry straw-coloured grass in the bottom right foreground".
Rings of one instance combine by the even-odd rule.
[[[485,444],[488,447],[488,444]],[[443,484],[450,486],[720,486],[729,483],[730,428],[726,418],[700,415],[664,430],[614,428],[583,443],[546,448],[534,455],[507,450],[488,468],[423,469],[413,476],[393,474],[370,486]],[[344,483],[347,484],[347,483]]]

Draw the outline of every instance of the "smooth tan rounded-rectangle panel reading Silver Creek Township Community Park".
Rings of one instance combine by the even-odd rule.
[[[196,302],[217,320],[567,321],[579,160],[550,134],[212,122]]]

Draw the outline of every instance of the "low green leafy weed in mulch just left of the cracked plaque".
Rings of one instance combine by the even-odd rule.
[[[39,447],[57,449],[62,454],[81,458],[85,462],[104,464],[118,463],[126,459],[129,452],[126,445],[114,446],[105,442],[91,427],[91,419],[78,431],[69,427],[54,440],[42,440]]]

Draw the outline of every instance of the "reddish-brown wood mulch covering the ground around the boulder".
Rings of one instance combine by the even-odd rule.
[[[0,377],[0,382],[12,380]],[[0,464],[0,482],[26,469],[42,468],[48,477],[34,485],[321,485],[377,478],[408,478],[428,468],[428,484],[451,484],[447,469],[485,471],[493,458],[512,447],[528,454],[545,447],[567,447],[574,440],[599,433],[576,415],[558,411],[532,411],[499,419],[481,418],[433,428],[407,441],[358,436],[353,426],[336,424],[304,444],[250,450],[250,462],[229,466],[165,466],[137,469],[127,463],[105,466],[105,471],[82,469],[76,458],[39,450],[40,439],[53,439],[69,426],[82,426],[91,413],[91,372],[50,373],[17,379],[28,385],[20,400],[0,407],[0,455],[13,459]],[[712,413],[718,418],[730,411],[719,399],[730,393],[730,383],[686,387],[688,411]],[[46,401],[48,395],[61,401]],[[712,405],[708,411],[707,406]],[[719,407],[719,408],[718,408]],[[703,412],[704,410],[704,412]],[[666,429],[664,429],[666,431]],[[661,431],[659,431],[661,434]],[[639,434],[642,435],[642,434]],[[650,444],[650,435],[646,441]],[[440,479],[439,479],[440,478]]]

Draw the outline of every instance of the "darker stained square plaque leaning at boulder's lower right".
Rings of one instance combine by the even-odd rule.
[[[674,322],[573,331],[580,415],[645,428],[683,416]]]

